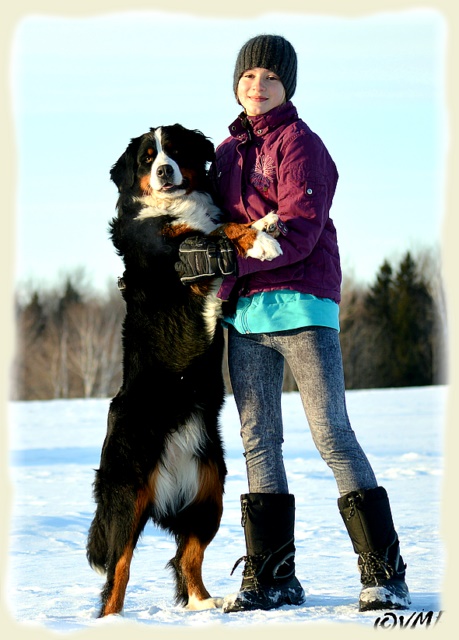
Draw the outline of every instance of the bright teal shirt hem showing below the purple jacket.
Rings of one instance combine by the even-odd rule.
[[[300,327],[339,331],[339,306],[329,298],[281,289],[239,298],[234,315],[223,318],[239,333],[272,333]]]

